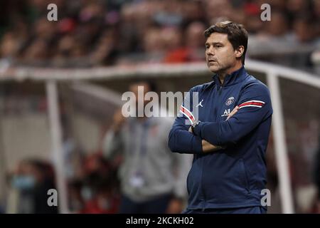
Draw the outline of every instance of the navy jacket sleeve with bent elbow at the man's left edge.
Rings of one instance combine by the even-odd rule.
[[[195,89],[191,88],[188,95],[186,95],[186,98],[183,100],[183,106],[193,107],[191,99],[193,92],[195,92]],[[188,119],[181,115],[181,113],[178,113],[169,133],[169,148],[172,152],[186,154],[202,153],[202,140],[199,136],[188,132],[190,126],[191,124],[188,123]]]

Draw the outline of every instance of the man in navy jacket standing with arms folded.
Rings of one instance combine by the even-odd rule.
[[[265,213],[265,151],[272,105],[263,83],[244,68],[247,32],[225,21],[205,31],[206,61],[213,81],[195,86],[198,120],[178,115],[169,133],[173,152],[194,154],[187,178],[186,213]],[[192,95],[190,95],[192,97]],[[232,110],[232,111],[231,111]]]

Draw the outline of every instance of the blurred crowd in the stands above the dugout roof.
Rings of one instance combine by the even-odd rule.
[[[51,3],[58,21],[47,19]],[[271,21],[260,19],[265,3]],[[307,68],[319,61],[319,0],[21,0],[1,3],[0,15],[2,67],[203,61],[203,31],[225,19],[249,31],[249,56],[289,54],[285,63]]]

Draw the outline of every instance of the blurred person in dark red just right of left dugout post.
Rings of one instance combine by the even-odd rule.
[[[99,153],[88,155],[83,177],[69,182],[71,212],[85,214],[116,213],[119,207],[116,167]]]

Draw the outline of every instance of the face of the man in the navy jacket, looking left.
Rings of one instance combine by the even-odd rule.
[[[206,41],[206,61],[213,73],[228,71],[235,66],[235,50],[228,41],[228,34],[212,33]]]

